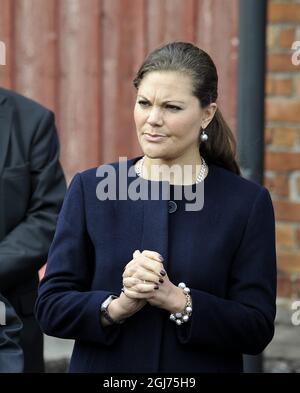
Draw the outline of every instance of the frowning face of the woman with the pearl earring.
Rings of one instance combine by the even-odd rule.
[[[190,76],[153,71],[141,81],[134,119],[139,143],[148,157],[194,159],[199,155],[199,132],[207,116],[192,94]]]

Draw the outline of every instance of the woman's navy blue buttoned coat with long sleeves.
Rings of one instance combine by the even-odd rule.
[[[100,304],[120,293],[134,250],[159,252],[167,272],[172,261],[167,201],[99,201],[99,181],[96,169],[74,177],[36,304],[45,333],[76,340],[70,371],[242,371],[242,354],[260,353],[274,333],[276,253],[268,191],[210,165],[204,207],[190,213],[195,225],[182,238],[186,260],[169,276],[191,288],[190,321],[177,326],[167,311],[147,304],[124,324],[103,328]],[[172,244],[173,252],[182,244]]]

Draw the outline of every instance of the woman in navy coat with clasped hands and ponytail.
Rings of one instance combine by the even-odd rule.
[[[37,301],[45,333],[76,340],[71,372],[241,372],[272,339],[272,203],[239,176],[217,82],[194,45],[156,49],[134,80],[127,198],[103,195],[121,163],[74,177]]]

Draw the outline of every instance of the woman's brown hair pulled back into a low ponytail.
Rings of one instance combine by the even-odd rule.
[[[218,74],[211,57],[202,49],[188,42],[171,42],[151,52],[141,65],[133,81],[138,89],[142,79],[152,71],[178,71],[193,79],[193,94],[202,108],[216,102],[218,97]],[[235,159],[236,142],[230,127],[217,109],[206,127],[206,142],[200,142],[201,156],[208,162],[240,174]]]

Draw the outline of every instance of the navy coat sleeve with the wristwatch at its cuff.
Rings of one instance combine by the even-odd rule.
[[[87,233],[80,174],[68,189],[39,286],[36,315],[52,336],[110,345],[120,325],[103,327],[100,305],[111,294],[91,291],[93,245]],[[115,294],[116,295],[116,294]]]

